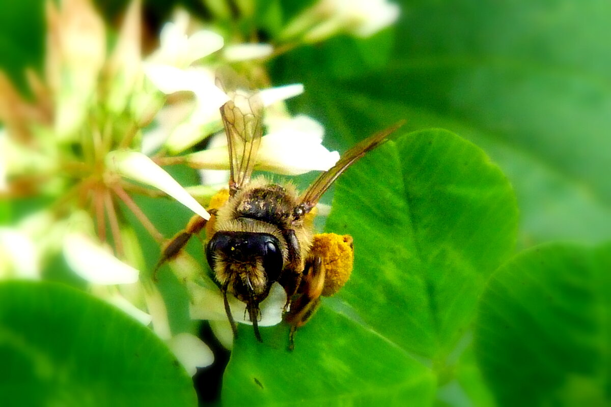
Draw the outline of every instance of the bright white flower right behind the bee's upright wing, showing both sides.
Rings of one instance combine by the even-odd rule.
[[[320,123],[303,115],[276,124],[276,128],[261,139],[255,168],[284,175],[329,170],[340,155],[321,145],[323,132]],[[224,146],[186,156],[191,167],[210,170],[229,168],[227,157],[226,142]]]

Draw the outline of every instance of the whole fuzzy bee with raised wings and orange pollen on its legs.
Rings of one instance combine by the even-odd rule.
[[[314,234],[316,204],[346,168],[384,143],[403,123],[357,143],[299,193],[292,184],[261,177],[251,180],[263,134],[263,106],[256,95],[236,93],[221,107],[221,117],[229,149],[229,189],[213,197],[208,222],[196,215],[170,240],[159,264],[176,256],[191,236],[205,228],[211,278],[221,290],[234,336],[236,323],[228,296],[246,304],[254,335],[261,342],[259,304],[279,283],[287,294],[284,320],[291,326],[292,350],[296,329],[312,317],[321,295],[333,295],[343,286],[353,265],[350,236]]]

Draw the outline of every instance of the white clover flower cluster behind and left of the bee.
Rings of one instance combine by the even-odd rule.
[[[307,43],[342,31],[370,35],[396,18],[396,7],[386,5],[384,17],[373,22],[366,18],[367,7],[362,2],[356,12],[342,1],[321,1],[289,24],[280,45],[282,38]],[[194,373],[196,366],[212,362],[211,351],[191,333],[170,329],[164,298],[145,272],[144,253],[122,211],[131,212],[159,245],[166,239],[137,204],[137,195],[171,196],[209,217],[200,202],[209,200],[214,188],[185,189],[160,165],[186,164],[202,170],[204,179],[210,179],[209,170],[227,170],[219,107],[229,96],[215,85],[215,71],[233,62],[251,62],[252,72],[261,71],[260,62],[281,47],[227,43],[235,36],[197,26],[178,12],[163,27],[158,49],[145,56],[137,0],[126,10],[112,47],[90,0],[48,1],[46,18],[43,75],[27,72],[32,98],[21,96],[0,72],[0,196],[38,196],[49,203],[0,226],[0,278],[43,279],[49,261],[63,256],[92,294],[152,325]],[[296,175],[327,170],[338,160],[337,152],[321,145],[319,123],[287,113],[284,99],[301,92],[300,84],[260,92],[271,108],[257,168]],[[210,148],[194,148],[207,137]],[[171,267],[187,286],[191,317],[210,320],[231,347],[221,293],[202,266],[181,253]],[[259,325],[280,322],[284,295],[273,288],[262,303]],[[236,320],[248,323],[243,303],[230,306]]]

